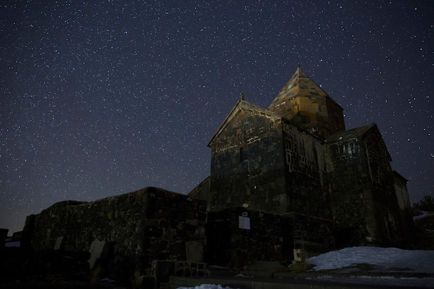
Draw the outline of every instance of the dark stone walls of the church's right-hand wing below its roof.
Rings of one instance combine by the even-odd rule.
[[[327,143],[325,155],[338,247],[401,245],[394,175],[378,128]]]

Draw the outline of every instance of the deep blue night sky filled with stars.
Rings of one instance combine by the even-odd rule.
[[[0,227],[62,200],[188,193],[239,94],[268,107],[298,64],[347,129],[379,125],[412,203],[433,195],[433,7],[1,1]]]

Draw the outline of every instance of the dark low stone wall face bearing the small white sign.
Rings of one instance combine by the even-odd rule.
[[[240,226],[240,217],[248,218],[249,229]],[[243,207],[209,212],[205,261],[242,270],[257,261],[292,260],[290,222],[290,218]]]

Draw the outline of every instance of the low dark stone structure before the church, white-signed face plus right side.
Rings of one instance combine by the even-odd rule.
[[[240,218],[248,218],[247,229]],[[208,213],[205,261],[210,265],[242,270],[258,261],[292,261],[294,249],[304,249],[307,256],[313,256],[333,245],[331,220],[243,207]]]

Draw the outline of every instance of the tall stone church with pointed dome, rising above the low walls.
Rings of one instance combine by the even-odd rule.
[[[304,242],[324,243],[315,232],[327,227],[332,247],[410,243],[407,181],[378,126],[346,130],[342,107],[300,67],[268,108],[241,95],[208,146],[211,175],[189,195],[209,212],[293,213]]]

